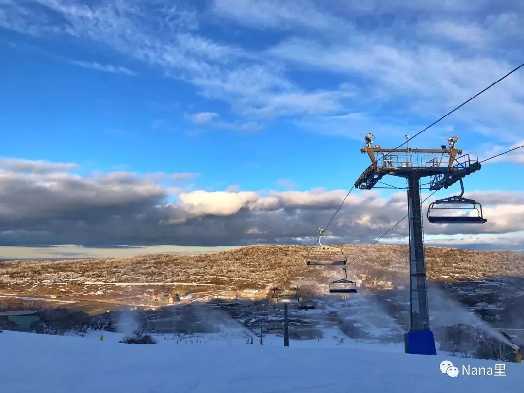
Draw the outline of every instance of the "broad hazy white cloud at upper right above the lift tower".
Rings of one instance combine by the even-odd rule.
[[[348,100],[346,105],[367,104],[368,118],[383,128],[405,122],[414,113],[436,119],[516,65],[485,53],[470,55],[417,41],[409,46],[391,42],[380,31],[361,32],[345,42],[289,38],[270,48],[268,54],[297,68],[359,80],[361,100]],[[467,124],[473,132],[515,140],[519,134],[516,124],[524,125],[522,91],[524,77],[512,74],[454,113],[452,119]],[[395,112],[381,115],[377,111],[380,102],[394,102]]]

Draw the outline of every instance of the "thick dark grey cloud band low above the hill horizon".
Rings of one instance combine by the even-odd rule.
[[[27,165],[37,165],[37,161]],[[346,194],[345,190],[321,189],[263,194],[177,188],[178,200],[169,202],[173,188],[158,182],[184,176],[115,172],[81,177],[38,168],[26,173],[4,165],[0,245],[313,243],[316,228],[330,220]],[[447,235],[450,245],[467,246],[513,234],[507,244],[516,244],[519,231],[524,230],[524,195],[487,191],[468,196],[484,203],[488,223],[425,223],[428,242],[446,244],[445,236],[432,236]],[[405,198],[403,192],[385,199],[375,191],[354,191],[326,233],[326,243],[373,242],[406,214]],[[398,242],[407,232],[402,222],[385,240]]]

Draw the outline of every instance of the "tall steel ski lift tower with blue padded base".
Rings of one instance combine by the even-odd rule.
[[[478,159],[460,156],[462,150],[455,149],[458,139],[459,136],[447,138],[447,146],[441,145],[440,149],[383,149],[373,145],[373,134],[367,134],[366,145],[361,149],[372,164],[357,179],[355,188],[370,190],[387,174],[406,178],[408,182],[411,329],[404,334],[406,353],[436,355],[429,326],[420,179],[431,177],[430,190],[440,190],[481,169]]]

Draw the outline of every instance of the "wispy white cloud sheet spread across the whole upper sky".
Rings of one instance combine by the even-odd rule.
[[[496,9],[486,1],[465,0],[216,0],[205,12],[186,4],[3,2],[0,26],[41,39],[94,44],[231,105],[235,117],[211,111],[190,115],[199,127],[187,135],[204,133],[202,125],[257,130],[269,119],[289,116],[302,128],[357,138],[364,129],[401,136],[403,127],[427,125],[422,119],[438,118],[513,68],[520,58],[508,42],[524,32],[524,6],[513,0]],[[244,27],[278,33],[250,45],[235,41],[235,34],[212,36],[206,23],[228,23],[235,34],[244,34]],[[244,27],[237,31],[237,26]],[[468,133],[497,144],[515,143],[524,125],[522,92],[518,72],[450,116],[456,123],[451,126],[465,125]]]

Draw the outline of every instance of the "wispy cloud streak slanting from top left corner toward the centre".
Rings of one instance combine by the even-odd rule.
[[[162,34],[161,29],[151,30],[150,25],[158,26],[158,18],[165,18],[165,14],[150,13],[139,3],[113,1],[88,6],[60,0],[38,2],[60,18],[45,25],[41,23],[48,16],[45,8],[40,7],[38,12],[22,4],[6,8],[19,15],[20,23],[28,30],[34,27],[39,36],[62,34],[109,47],[159,67],[171,78],[190,82],[205,97],[230,102],[238,114],[272,117],[329,112],[340,106],[336,91],[304,91],[289,80],[281,64],[259,53],[197,35],[178,18],[171,20],[169,35]],[[176,29],[177,23],[180,25]],[[14,29],[9,24],[3,26]],[[100,63],[77,64],[107,72],[130,71]],[[234,121],[221,128],[255,129],[259,125]]]

